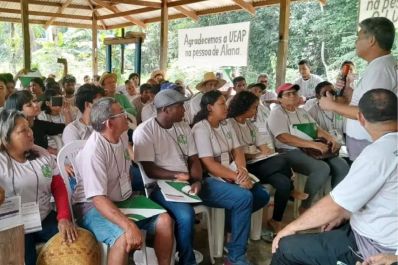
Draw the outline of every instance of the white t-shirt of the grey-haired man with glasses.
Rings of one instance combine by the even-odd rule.
[[[78,173],[73,202],[86,202],[95,196],[107,196],[113,202],[128,199],[132,188],[127,148],[127,133],[112,144],[94,131],[76,156]]]

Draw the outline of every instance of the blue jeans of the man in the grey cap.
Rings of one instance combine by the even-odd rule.
[[[190,203],[169,202],[156,188],[151,199],[163,206],[175,222],[174,235],[177,242],[179,263],[184,265],[196,264],[193,253],[193,234],[195,225],[195,211]]]

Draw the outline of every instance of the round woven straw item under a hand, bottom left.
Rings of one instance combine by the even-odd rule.
[[[36,265],[98,265],[101,251],[95,237],[83,228],[77,228],[78,238],[67,244],[60,233],[53,236],[41,249]]]

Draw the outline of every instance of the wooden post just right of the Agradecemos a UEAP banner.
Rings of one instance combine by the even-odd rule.
[[[290,0],[280,1],[279,43],[276,62],[276,87],[285,83],[287,48],[289,42]]]

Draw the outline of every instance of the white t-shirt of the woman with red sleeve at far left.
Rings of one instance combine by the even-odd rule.
[[[52,207],[51,181],[59,175],[55,159],[40,146],[32,148],[39,157],[20,163],[12,159],[6,152],[0,152],[0,186],[5,190],[6,197],[21,196],[21,202],[39,203],[40,218],[43,220]]]

